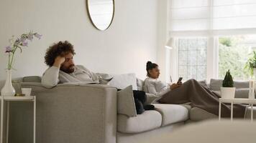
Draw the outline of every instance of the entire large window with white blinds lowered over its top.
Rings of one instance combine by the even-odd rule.
[[[250,78],[244,65],[256,50],[255,0],[169,0],[168,5],[173,79],[222,79],[228,69],[234,79]]]

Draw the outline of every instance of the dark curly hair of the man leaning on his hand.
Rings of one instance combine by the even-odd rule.
[[[65,56],[65,54],[76,54],[73,45],[68,41],[59,41],[58,44],[52,44],[45,53],[45,64],[52,66],[57,56]]]

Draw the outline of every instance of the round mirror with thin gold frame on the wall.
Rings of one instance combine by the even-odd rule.
[[[87,0],[86,5],[93,26],[108,29],[114,18],[114,0]]]

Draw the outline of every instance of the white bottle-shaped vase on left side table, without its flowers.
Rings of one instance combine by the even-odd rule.
[[[4,84],[4,87],[1,89],[1,96],[14,96],[15,89],[12,87],[12,70],[6,70],[7,77]]]

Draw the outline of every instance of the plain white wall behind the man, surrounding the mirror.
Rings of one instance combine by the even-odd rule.
[[[88,19],[85,0],[1,0],[0,81],[6,77],[4,47],[8,39],[29,30],[43,36],[15,55],[14,78],[42,75],[47,68],[47,47],[68,40],[75,46],[76,64],[95,72],[134,72],[144,79],[146,61],[157,59],[158,1],[116,0],[115,4],[113,23],[106,31],[99,31]]]

